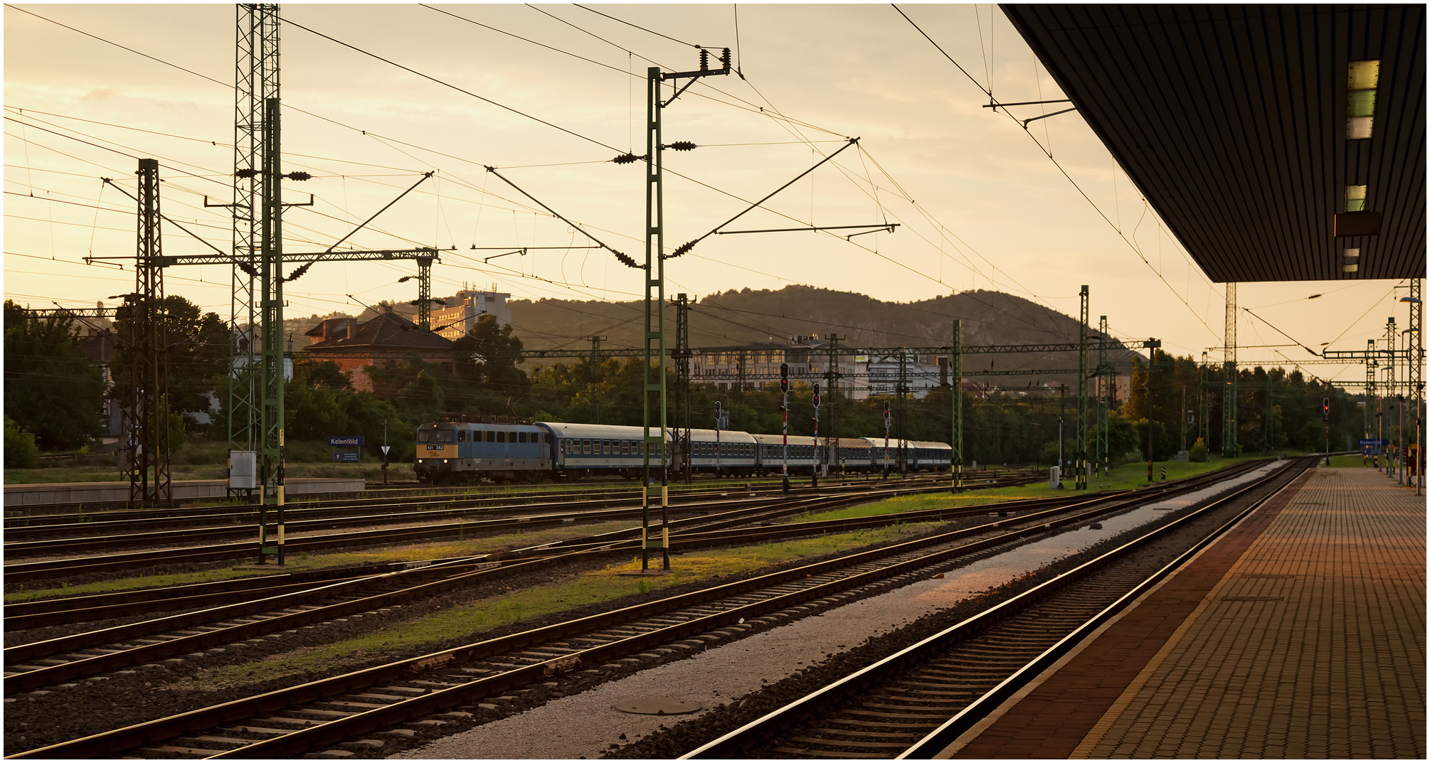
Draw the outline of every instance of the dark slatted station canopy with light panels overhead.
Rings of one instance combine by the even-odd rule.
[[[1426,274],[1426,7],[1008,4],[1214,281]]]

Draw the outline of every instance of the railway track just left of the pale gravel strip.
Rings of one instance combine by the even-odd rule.
[[[1155,497],[1161,496],[1140,492],[1135,500]],[[931,566],[1124,510],[1133,500],[1093,499],[1090,503],[1105,506],[1064,510],[1060,517],[1050,516],[1055,509],[1020,512],[1024,516],[197,709],[13,757],[289,757],[393,726],[420,729],[423,723],[443,722],[415,719],[445,712],[448,720],[459,719],[473,709],[472,703],[531,690],[532,684],[551,684],[566,674],[589,679],[629,662],[671,659],[919,579]]]

